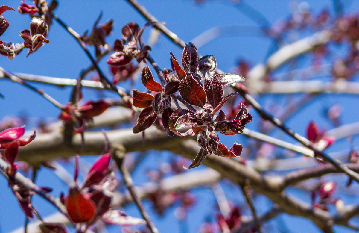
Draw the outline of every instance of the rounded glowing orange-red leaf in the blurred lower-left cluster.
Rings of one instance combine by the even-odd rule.
[[[95,216],[93,201],[83,196],[76,186],[70,188],[65,206],[71,220],[75,223],[90,221]]]

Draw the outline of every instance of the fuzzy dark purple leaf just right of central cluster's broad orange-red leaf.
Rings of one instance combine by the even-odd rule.
[[[223,100],[223,88],[214,72],[207,72],[204,79],[204,90],[207,101],[215,109]]]

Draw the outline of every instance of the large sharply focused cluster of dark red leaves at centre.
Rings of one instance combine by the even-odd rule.
[[[220,143],[218,134],[214,131],[226,135],[239,134],[252,120],[252,116],[243,104],[239,106],[236,116],[230,121],[226,119],[224,111],[220,110],[232,96],[239,95],[233,92],[224,96],[223,87],[243,81],[243,77],[236,74],[215,74],[214,56],[206,55],[198,59],[197,48],[192,43],[183,49],[183,68],[180,67],[172,52],[171,62],[174,79],[168,79],[164,87],[154,80],[149,67],[142,70],[141,81],[148,90],[154,92],[154,95],[134,90],[134,106],[145,109],[141,111],[133,132],[138,133],[149,128],[154,124],[158,114],[162,114],[162,125],[169,136],[197,134],[201,150],[188,168],[199,166],[208,153],[224,157],[241,155],[242,145],[234,143],[228,150]],[[203,80],[204,83],[201,82]],[[177,91],[180,92],[186,104],[191,105],[191,109],[173,110],[171,108],[171,95]],[[194,106],[201,109],[196,110]],[[213,120],[218,111],[218,116]],[[188,129],[186,132],[180,132],[181,129],[186,128]]]

